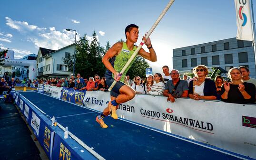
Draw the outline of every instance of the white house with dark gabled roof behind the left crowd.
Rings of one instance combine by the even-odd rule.
[[[68,70],[62,57],[74,55],[74,49],[75,43],[56,51],[40,47],[37,56],[37,77],[62,78],[71,75],[73,72]]]

